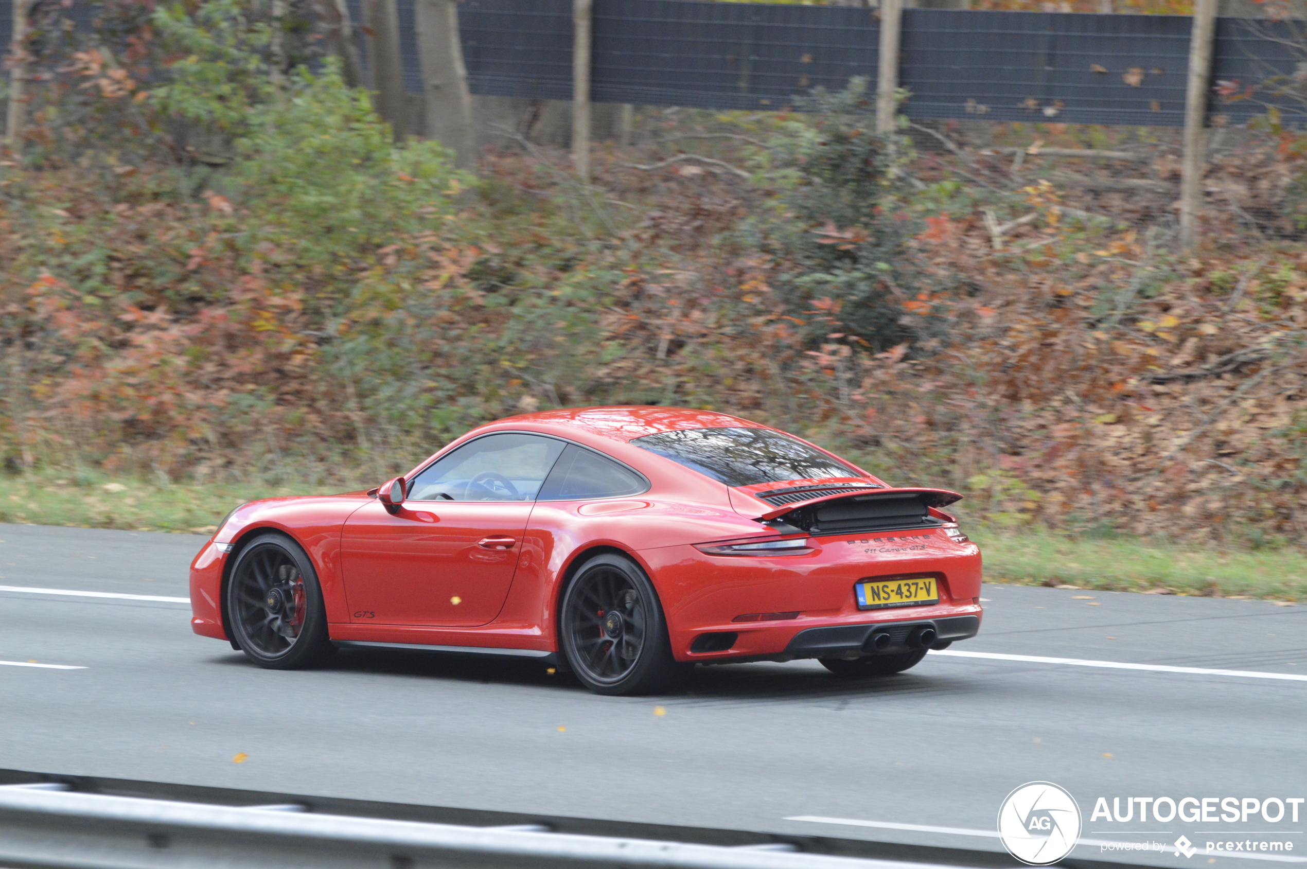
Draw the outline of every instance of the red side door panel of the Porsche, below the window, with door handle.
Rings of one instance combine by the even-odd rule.
[[[350,621],[472,627],[503,608],[533,502],[359,508],[341,534]]]

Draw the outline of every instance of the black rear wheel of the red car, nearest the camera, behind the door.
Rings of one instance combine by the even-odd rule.
[[[689,669],[672,656],[654,583],[622,555],[596,555],[576,570],[558,626],[567,665],[596,694],[667,691]]]

